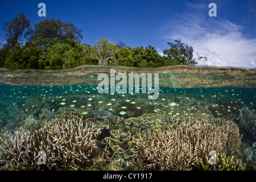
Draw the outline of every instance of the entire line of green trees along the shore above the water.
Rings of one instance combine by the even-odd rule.
[[[122,65],[131,67],[160,67],[193,65],[193,47],[173,40],[159,55],[154,46],[131,47],[101,38],[91,46],[81,43],[82,30],[71,22],[45,19],[31,27],[23,13],[3,23],[5,44],[0,45],[0,68],[65,69],[80,65]],[[26,38],[26,42],[22,42]]]

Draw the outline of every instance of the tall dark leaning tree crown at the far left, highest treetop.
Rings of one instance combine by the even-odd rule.
[[[30,20],[26,19],[23,13],[18,13],[10,23],[3,23],[3,31],[6,31],[6,46],[8,48],[13,48],[16,44],[18,44],[18,40],[22,38],[23,32],[26,28],[30,27]]]

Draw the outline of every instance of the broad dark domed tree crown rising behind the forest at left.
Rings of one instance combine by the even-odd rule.
[[[62,43],[64,43],[66,39],[74,39],[79,42],[83,37],[81,32],[82,30],[77,29],[73,23],[65,23],[61,22],[60,19],[56,20],[52,18],[51,20],[46,19],[36,23],[35,29],[30,28],[25,33],[25,36],[28,40],[58,38]]]

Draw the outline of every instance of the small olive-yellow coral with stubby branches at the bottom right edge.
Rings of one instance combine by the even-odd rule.
[[[214,154],[216,164],[211,162],[208,155],[205,155],[205,159],[200,159],[193,165],[193,171],[243,171],[245,165],[240,160],[234,158],[234,156],[226,156],[225,153]],[[212,159],[213,160],[213,159]]]

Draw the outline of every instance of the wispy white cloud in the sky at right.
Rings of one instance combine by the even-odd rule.
[[[199,65],[255,68],[256,39],[247,39],[242,30],[229,20],[183,13],[168,19],[160,32],[166,41],[181,39],[193,46],[194,57],[207,56]]]

